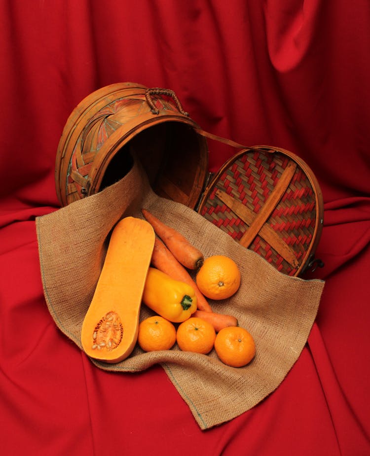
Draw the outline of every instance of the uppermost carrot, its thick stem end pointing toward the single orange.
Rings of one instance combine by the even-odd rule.
[[[181,233],[165,225],[146,209],[141,210],[174,257],[187,269],[199,269],[203,264],[203,253],[194,247]]]

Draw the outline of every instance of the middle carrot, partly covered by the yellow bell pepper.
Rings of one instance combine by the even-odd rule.
[[[153,253],[151,255],[151,264],[154,266],[154,268],[157,268],[168,276],[172,277],[172,279],[182,281],[190,285],[194,289],[198,309],[204,312],[212,312],[211,306],[203,294],[199,291],[190,274],[158,238],[155,238],[154,241]]]

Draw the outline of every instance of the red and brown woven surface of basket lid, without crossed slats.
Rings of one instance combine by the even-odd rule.
[[[248,225],[222,203],[216,196],[216,190],[225,191],[257,214],[274,191],[290,160],[290,157],[281,152],[269,153],[255,149],[237,155],[209,190],[201,214],[239,241],[248,230]],[[312,243],[316,224],[315,206],[315,194],[310,181],[297,166],[289,187],[266,223],[294,251],[299,265]],[[259,235],[249,248],[279,271],[295,275],[297,267],[287,262]]]

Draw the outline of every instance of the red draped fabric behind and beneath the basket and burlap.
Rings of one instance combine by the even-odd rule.
[[[0,441],[5,455],[370,455],[368,0],[0,1]],[[254,409],[201,431],[156,366],[93,367],[43,298],[35,217],[58,208],[74,106],[132,81],[201,127],[313,169],[326,280],[308,343]],[[215,171],[234,151],[210,143]]]

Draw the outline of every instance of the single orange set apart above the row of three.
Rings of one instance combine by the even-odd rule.
[[[240,271],[234,260],[213,255],[204,260],[196,275],[199,291],[210,299],[226,299],[240,286]]]

